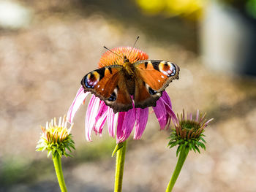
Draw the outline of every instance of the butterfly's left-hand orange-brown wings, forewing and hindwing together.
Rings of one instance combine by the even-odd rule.
[[[113,108],[113,112],[127,111],[132,109],[132,99],[123,73],[123,66],[105,66],[86,74],[81,84],[84,91],[94,93]]]

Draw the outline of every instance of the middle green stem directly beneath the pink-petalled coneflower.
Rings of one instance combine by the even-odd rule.
[[[124,159],[127,148],[127,141],[118,143],[118,151],[116,152],[116,175],[115,175],[115,190],[121,192],[124,174]]]

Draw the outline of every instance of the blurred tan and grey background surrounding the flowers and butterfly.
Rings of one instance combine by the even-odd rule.
[[[0,1],[0,191],[59,191],[40,126],[64,115],[105,50],[132,46],[173,61],[173,110],[214,118],[206,151],[189,153],[174,191],[256,191],[255,0]],[[113,191],[116,144],[105,130],[86,142],[86,104],[75,116],[69,191]],[[154,113],[128,142],[123,191],[165,191],[176,165],[170,129]]]

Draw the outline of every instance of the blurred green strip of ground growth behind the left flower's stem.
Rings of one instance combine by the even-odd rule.
[[[72,168],[78,164],[83,164],[89,161],[102,161],[111,158],[111,154],[116,146],[114,139],[101,139],[98,142],[93,142],[93,145],[83,145],[72,153],[74,158],[62,158],[63,169]],[[43,177],[43,178],[42,178]],[[7,190],[12,185],[18,183],[27,183],[33,185],[38,180],[44,178],[55,177],[53,162],[50,158],[45,158],[29,161],[28,158],[11,158],[6,157],[1,160],[0,167],[0,191]]]

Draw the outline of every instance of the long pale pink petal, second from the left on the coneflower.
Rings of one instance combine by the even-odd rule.
[[[91,142],[91,131],[94,129],[96,123],[99,101],[100,99],[98,97],[92,95],[86,111],[86,139],[89,142]]]

